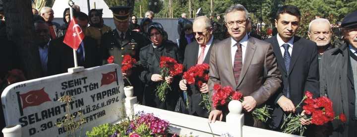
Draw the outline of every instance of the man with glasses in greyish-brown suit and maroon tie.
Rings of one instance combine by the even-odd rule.
[[[215,44],[210,56],[208,86],[213,93],[215,83],[231,86],[244,97],[244,124],[264,128],[253,119],[251,111],[263,105],[281,86],[281,75],[270,43],[249,37],[246,27],[249,23],[248,11],[241,4],[226,10],[226,26],[231,35]],[[211,94],[212,95],[212,94]],[[213,108],[209,120],[222,120],[222,110]]]

